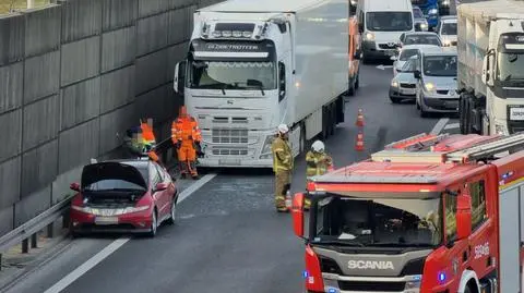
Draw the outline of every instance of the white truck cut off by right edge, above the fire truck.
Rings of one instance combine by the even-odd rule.
[[[524,2],[462,3],[457,30],[461,133],[524,131]]]

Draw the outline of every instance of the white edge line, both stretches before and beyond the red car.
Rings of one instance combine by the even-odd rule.
[[[181,203],[182,200],[188,198],[191,194],[193,194],[194,192],[200,190],[202,186],[204,186],[205,183],[210,182],[215,176],[216,176],[216,174],[207,174],[207,175],[201,178],[199,181],[194,182],[194,184],[191,184],[188,188],[183,190],[183,192],[180,193],[180,195],[178,196],[178,202],[177,203]],[[63,279],[58,281],[55,285],[52,285],[51,288],[46,290],[44,293],[59,293],[59,292],[61,292],[62,290],[68,288],[70,284],[72,284],[74,281],[76,281],[80,277],[84,276],[87,271],[90,271],[92,268],[94,268],[96,265],[102,263],[102,260],[106,259],[112,253],[118,251],[118,248],[122,247],[123,244],[126,244],[129,240],[130,239],[118,239],[118,240],[111,242],[104,249],[102,249],[95,256],[93,256],[87,261],[82,264],[75,270],[73,270],[68,276],[66,276]]]

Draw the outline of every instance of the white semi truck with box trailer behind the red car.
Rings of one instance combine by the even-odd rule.
[[[348,90],[348,0],[229,0],[194,13],[174,88],[202,130],[200,166],[271,168],[281,123],[295,156],[334,133]]]

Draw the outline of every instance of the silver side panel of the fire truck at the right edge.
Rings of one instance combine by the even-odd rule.
[[[521,272],[521,243],[524,241],[523,221],[524,187],[513,185],[502,190],[499,199],[500,292],[524,292],[521,291],[523,285]]]

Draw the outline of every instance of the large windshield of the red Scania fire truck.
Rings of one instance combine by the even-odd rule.
[[[333,195],[320,199],[312,212],[317,228],[311,236],[319,244],[436,246],[443,239],[441,213],[441,198]]]

